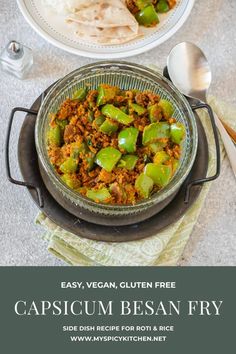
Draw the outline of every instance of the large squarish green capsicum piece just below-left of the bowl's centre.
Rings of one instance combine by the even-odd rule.
[[[107,172],[111,172],[117,162],[120,160],[120,158],[121,152],[109,146],[101,149],[97,153],[95,157],[95,162],[97,165],[104,168],[104,170],[106,170]]]

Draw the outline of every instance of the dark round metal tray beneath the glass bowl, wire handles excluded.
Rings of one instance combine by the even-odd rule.
[[[37,110],[40,103],[41,97],[35,101],[32,109]],[[20,132],[18,142],[18,160],[20,170],[25,181],[31,182],[42,189],[44,207],[41,208],[41,211],[60,227],[81,237],[99,241],[124,242],[150,237],[181,218],[198,198],[202,189],[202,186],[194,186],[191,189],[189,203],[184,203],[187,182],[199,178],[205,178],[208,167],[207,139],[199,118],[196,117],[196,119],[199,135],[198,151],[194,166],[187,180],[182,185],[176,197],[161,212],[154,215],[150,219],[137,224],[111,227],[89,223],[70,214],[55,201],[44,185],[39,171],[38,157],[34,141],[36,117],[33,115],[27,115],[25,117]],[[29,189],[29,193],[34,202],[37,204],[36,192],[33,189]]]

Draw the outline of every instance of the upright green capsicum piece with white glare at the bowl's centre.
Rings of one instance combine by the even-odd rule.
[[[119,148],[132,153],[136,151],[136,143],[139,135],[139,130],[134,127],[125,128],[118,135]]]

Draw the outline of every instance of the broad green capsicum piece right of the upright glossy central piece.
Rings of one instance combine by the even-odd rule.
[[[170,125],[165,122],[152,123],[143,130],[142,143],[144,146],[155,143],[159,139],[170,137]]]

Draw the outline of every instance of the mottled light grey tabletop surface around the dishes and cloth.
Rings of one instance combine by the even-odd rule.
[[[236,1],[196,0],[184,26],[161,46],[128,60],[163,67],[170,49],[178,42],[195,42],[206,53],[213,70],[210,93],[236,105]],[[51,83],[92,59],[68,54],[39,37],[26,23],[14,0],[0,0],[0,47],[16,39],[33,49],[35,64],[25,81],[0,71],[0,265],[64,265],[47,252],[34,225],[37,207],[23,187],[7,182],[4,140],[7,120],[15,106],[30,107]],[[12,138],[12,166],[17,168],[19,114]],[[236,119],[236,117],[235,117]],[[15,149],[14,149],[15,148]],[[212,184],[206,204],[184,252],[183,265],[236,265],[236,181],[225,160],[220,178]]]

